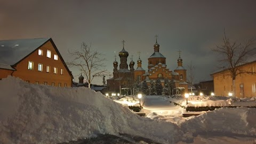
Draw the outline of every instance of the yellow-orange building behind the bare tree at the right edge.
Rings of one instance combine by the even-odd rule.
[[[256,61],[238,66],[241,70],[250,71],[251,74],[238,74],[235,81],[236,97],[256,97]],[[228,70],[218,71],[211,74],[214,83],[214,93],[219,96],[228,96],[229,92],[233,92],[233,82]]]

